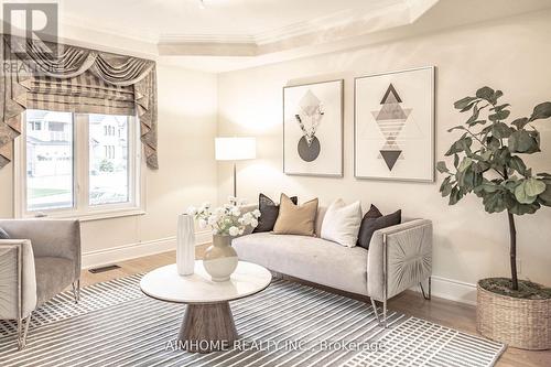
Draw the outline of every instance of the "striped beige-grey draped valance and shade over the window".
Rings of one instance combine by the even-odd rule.
[[[1,46],[0,169],[28,108],[136,115],[147,164],[159,168],[155,62],[6,34]]]

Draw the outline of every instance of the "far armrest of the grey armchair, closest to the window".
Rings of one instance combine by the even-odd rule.
[[[80,223],[61,219],[2,219],[11,238],[31,240],[34,256],[58,257],[75,263],[75,277],[80,274]]]

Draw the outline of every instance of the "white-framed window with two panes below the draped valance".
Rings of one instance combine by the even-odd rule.
[[[19,216],[142,213],[134,117],[26,110],[25,118]]]

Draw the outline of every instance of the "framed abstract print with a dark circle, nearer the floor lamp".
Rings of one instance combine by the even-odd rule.
[[[343,80],[283,88],[283,172],[343,175]]]

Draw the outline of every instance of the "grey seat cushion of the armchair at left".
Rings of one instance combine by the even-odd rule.
[[[75,279],[75,263],[65,258],[35,257],[37,304],[62,292]]]

